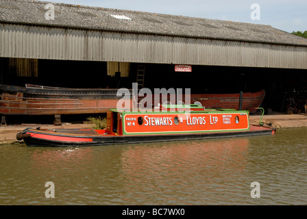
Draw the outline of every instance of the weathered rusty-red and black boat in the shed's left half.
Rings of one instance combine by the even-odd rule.
[[[116,107],[117,89],[0,86],[0,114],[99,114]]]

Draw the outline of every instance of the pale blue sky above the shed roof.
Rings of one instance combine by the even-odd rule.
[[[307,0],[49,0],[49,2],[256,23],[271,25],[289,33],[307,30]]]

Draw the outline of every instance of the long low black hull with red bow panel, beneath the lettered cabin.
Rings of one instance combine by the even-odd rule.
[[[24,140],[27,146],[103,146],[113,144],[136,144],[147,142],[168,142],[183,140],[201,140],[211,138],[234,138],[243,136],[261,136],[275,133],[275,128],[250,126],[248,131],[223,131],[216,133],[178,133],[137,136],[104,136],[103,134],[82,134],[75,129],[74,133],[52,133],[37,129],[25,129],[17,134],[17,140]],[[75,134],[77,133],[77,134]]]

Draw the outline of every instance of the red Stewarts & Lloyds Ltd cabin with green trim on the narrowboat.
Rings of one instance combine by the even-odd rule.
[[[158,112],[107,112],[106,133],[115,136],[249,130],[249,112],[160,105]]]

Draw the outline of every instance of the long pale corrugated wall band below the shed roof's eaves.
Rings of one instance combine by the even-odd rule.
[[[307,69],[307,47],[8,23],[0,57]]]

